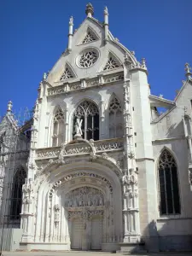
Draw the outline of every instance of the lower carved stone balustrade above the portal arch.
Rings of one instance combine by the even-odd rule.
[[[123,139],[113,138],[101,141],[93,142],[93,146],[96,149],[96,153],[107,152],[113,150],[123,149]],[[74,154],[90,154],[91,147],[89,143],[73,143],[67,144],[65,148],[66,155]],[[61,147],[51,147],[51,148],[38,148],[36,150],[36,159],[49,159],[57,158],[61,152]]]

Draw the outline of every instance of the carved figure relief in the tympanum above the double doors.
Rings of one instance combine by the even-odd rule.
[[[102,192],[90,187],[74,189],[65,198],[65,207],[98,207],[103,205]]]

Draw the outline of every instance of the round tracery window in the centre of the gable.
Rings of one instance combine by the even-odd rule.
[[[88,49],[79,56],[79,67],[91,67],[97,60],[96,51]]]

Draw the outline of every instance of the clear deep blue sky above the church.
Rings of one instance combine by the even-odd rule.
[[[67,46],[68,20],[78,28],[85,18],[85,0],[0,1],[0,115],[12,100],[14,108],[32,108],[42,75]],[[95,17],[103,20],[107,5],[109,29],[121,44],[145,57],[154,95],[173,99],[192,66],[192,0],[92,0]]]

